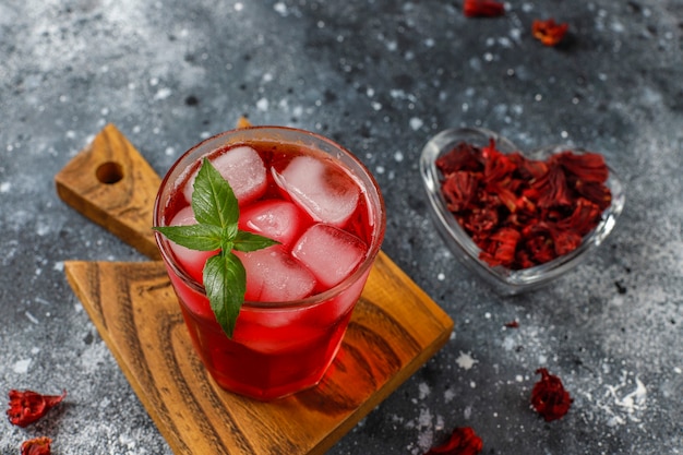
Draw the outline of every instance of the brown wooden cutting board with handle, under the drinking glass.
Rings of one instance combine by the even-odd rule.
[[[56,176],[72,207],[157,259],[158,176],[107,125]],[[259,402],[218,387],[194,354],[161,262],[64,264],[67,278],[176,454],[323,454],[450,338],[453,321],[380,253],[332,368]]]

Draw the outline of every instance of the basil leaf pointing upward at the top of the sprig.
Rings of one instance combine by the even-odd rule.
[[[192,211],[200,224],[221,228],[237,226],[240,216],[237,197],[230,184],[206,158],[194,179]]]

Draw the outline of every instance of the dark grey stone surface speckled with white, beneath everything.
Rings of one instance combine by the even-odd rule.
[[[451,342],[331,454],[412,454],[470,426],[486,454],[683,453],[683,2],[4,0],[0,2],[0,392],[69,390],[0,453],[169,454],[63,276],[63,261],[142,261],[65,206],[52,178],[107,122],[164,173],[188,147],[254,123],[331,136],[376,176],[384,251],[456,321]],[[571,25],[558,48],[534,19]],[[586,263],[503,298],[435,234],[418,172],[452,127],[523,148],[604,154],[626,184],[619,226]],[[519,328],[504,326],[519,321]],[[547,367],[574,397],[546,423]]]

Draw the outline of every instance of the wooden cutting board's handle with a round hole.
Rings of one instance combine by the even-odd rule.
[[[113,125],[55,176],[59,196],[143,254],[158,260],[152,213],[161,179]]]

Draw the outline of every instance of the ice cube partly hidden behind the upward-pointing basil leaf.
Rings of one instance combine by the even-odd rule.
[[[235,147],[211,160],[212,165],[230,183],[239,205],[247,204],[261,196],[267,185],[267,176],[263,159],[259,153],[247,145]],[[199,172],[199,170],[197,170]],[[192,202],[196,172],[188,180],[183,194]]]

